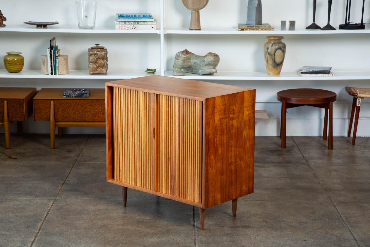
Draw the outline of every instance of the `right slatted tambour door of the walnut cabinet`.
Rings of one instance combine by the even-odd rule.
[[[157,97],[158,191],[202,203],[203,102]]]

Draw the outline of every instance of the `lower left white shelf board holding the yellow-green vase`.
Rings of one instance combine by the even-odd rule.
[[[19,73],[9,73],[6,70],[0,70],[0,78],[37,78],[37,79],[130,79],[141,76],[149,76],[145,71],[110,71],[106,75],[90,75],[88,70],[70,70],[68,74],[49,76],[42,74],[41,70],[22,70]]]

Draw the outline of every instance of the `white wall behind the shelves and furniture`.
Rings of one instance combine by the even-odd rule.
[[[206,27],[235,27],[246,20],[248,0],[210,0],[201,10],[201,25]],[[327,1],[317,3],[316,23],[327,22]],[[330,23],[344,22],[346,0],[334,0]],[[362,1],[353,1],[351,21],[360,21]],[[166,0],[166,27],[189,27],[190,11],[180,0]],[[54,13],[48,12],[51,8]],[[11,0],[1,1],[1,10],[7,25],[23,21],[59,21],[60,26],[77,26],[74,0]],[[281,20],[296,20],[296,27],[312,23],[312,0],[262,0],[263,22],[280,27]],[[98,1],[97,26],[111,26],[115,12],[150,12],[159,23],[159,0],[105,0]],[[370,23],[370,2],[366,1],[364,22]],[[70,70],[87,70],[87,49],[94,43],[108,48],[109,70],[145,70],[160,68],[159,34],[44,34],[0,32],[0,54],[22,51],[24,69],[39,69],[39,57],[46,53],[48,40],[55,36],[63,54],[69,56]],[[172,70],[176,52],[188,49],[202,55],[215,52],[221,57],[219,71],[265,71],[263,44],[265,35],[186,35],[166,34],[166,70]],[[287,54],[284,71],[295,71],[305,65],[333,66],[333,71],[369,71],[369,34],[285,35]],[[0,63],[0,69],[4,69]],[[109,72],[108,70],[108,72]],[[0,79],[0,87],[90,87],[104,86],[102,80],[61,79]],[[370,87],[369,81],[211,81],[255,88],[256,109],[266,109],[270,122],[256,124],[256,135],[278,135],[280,103],[276,92],[290,88],[319,88],[338,94],[334,103],[334,135],[345,136],[348,128],[351,97],[345,86]],[[358,136],[370,136],[370,100],[363,100]],[[313,107],[288,109],[287,135],[322,133],[324,111]],[[16,130],[16,126],[12,126]],[[2,129],[0,130],[2,131]],[[48,123],[24,124],[24,131],[48,133]],[[68,128],[69,133],[104,133],[104,128]]]

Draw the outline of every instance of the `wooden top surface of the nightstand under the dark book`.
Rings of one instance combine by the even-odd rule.
[[[63,97],[64,89],[43,88],[33,98],[35,100],[105,100],[104,89],[90,89],[89,97]]]

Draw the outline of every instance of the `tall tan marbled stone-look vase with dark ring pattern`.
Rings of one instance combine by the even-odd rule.
[[[267,73],[278,76],[283,67],[286,45],[281,41],[283,36],[267,36],[269,41],[263,46]]]

